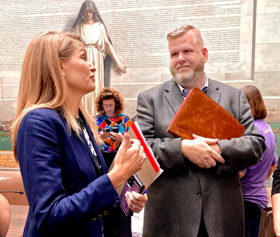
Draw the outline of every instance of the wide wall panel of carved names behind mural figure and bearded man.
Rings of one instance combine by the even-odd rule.
[[[71,30],[82,2],[1,1],[0,20],[4,24],[0,25],[0,70],[19,70],[30,40],[40,31]],[[95,3],[115,51],[127,67],[168,66],[167,33],[190,24],[202,32],[209,50],[206,67],[210,72],[251,71],[252,0]]]

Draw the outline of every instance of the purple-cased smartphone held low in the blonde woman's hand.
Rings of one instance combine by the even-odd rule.
[[[126,216],[129,216],[132,211],[129,209],[129,205],[127,204],[125,193],[127,191],[142,193],[143,190],[144,190],[144,184],[142,183],[141,179],[137,176],[137,174],[134,174],[126,181],[125,186],[122,189],[122,193],[120,194],[120,199],[121,199],[120,206]]]

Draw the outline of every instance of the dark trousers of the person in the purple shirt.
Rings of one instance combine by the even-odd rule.
[[[244,201],[245,236],[258,237],[260,229],[260,207],[249,201]]]

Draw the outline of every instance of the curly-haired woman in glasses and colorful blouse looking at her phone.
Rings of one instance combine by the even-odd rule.
[[[95,106],[98,112],[94,116],[94,121],[97,125],[96,132],[99,138],[104,141],[100,149],[109,169],[120,147],[123,134],[129,130],[132,121],[128,116],[122,114],[124,110],[122,95],[113,88],[102,88],[96,98]],[[118,133],[107,132],[112,126],[118,126]],[[119,206],[114,211],[111,211],[107,223],[110,228],[104,228],[106,229],[104,237],[132,236],[131,217],[126,217]],[[104,227],[106,227],[106,223],[104,223]]]

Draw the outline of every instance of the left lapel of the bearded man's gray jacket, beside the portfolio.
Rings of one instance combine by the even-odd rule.
[[[184,97],[181,93],[180,88],[178,87],[176,81],[174,81],[174,79],[171,79],[167,83],[165,90],[167,91],[167,94],[165,97],[166,97],[168,103],[170,104],[174,113],[177,113],[181,104],[184,101]]]

